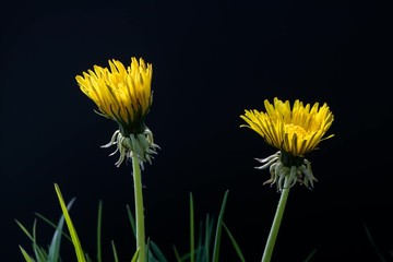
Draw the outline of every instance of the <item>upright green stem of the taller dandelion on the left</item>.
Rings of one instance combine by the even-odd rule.
[[[139,249],[139,262],[146,261],[145,247],[145,229],[143,216],[143,194],[142,194],[142,179],[140,163],[135,154],[132,156],[132,170],[134,182],[134,199],[135,199],[135,221],[136,221],[136,250]]]

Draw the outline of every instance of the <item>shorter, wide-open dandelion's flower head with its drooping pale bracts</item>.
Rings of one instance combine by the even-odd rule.
[[[267,144],[278,150],[266,158],[257,158],[263,164],[258,169],[270,169],[271,178],[264,183],[275,183],[278,191],[296,182],[312,188],[317,179],[305,155],[317,148],[321,141],[333,136],[323,138],[334,120],[333,114],[326,104],[320,107],[315,103],[311,107],[299,99],[290,107],[288,100],[275,97],[273,105],[266,99],[264,106],[266,112],[245,110],[245,115],[240,116],[247,122],[240,127],[254,130]]]

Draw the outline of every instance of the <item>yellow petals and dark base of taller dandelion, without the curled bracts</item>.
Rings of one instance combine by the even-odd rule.
[[[119,123],[123,135],[142,133],[153,100],[152,64],[133,57],[128,68],[115,59],[109,60],[109,68],[94,66],[83,76],[76,75],[76,82],[103,116]]]

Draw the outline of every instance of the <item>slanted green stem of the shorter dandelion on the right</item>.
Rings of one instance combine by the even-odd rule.
[[[275,241],[276,241],[276,238],[278,235],[278,229],[279,229],[282,218],[283,218],[285,204],[287,202],[288,194],[289,194],[289,188],[290,188],[289,177],[286,176],[285,181],[284,181],[284,188],[283,188],[283,191],[281,192],[277,210],[276,210],[276,213],[275,213],[275,216],[273,219],[273,224],[271,227],[271,231],[269,234],[266,246],[263,251],[262,262],[270,262],[272,259],[272,253],[273,253],[274,245],[275,245]]]

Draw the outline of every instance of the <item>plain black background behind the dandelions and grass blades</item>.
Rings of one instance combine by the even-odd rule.
[[[388,1],[386,1],[388,2]],[[116,124],[75,75],[108,59],[153,63],[154,104],[146,123],[162,150],[143,171],[146,235],[175,261],[189,247],[189,193],[195,219],[217,215],[247,261],[260,261],[279,194],[262,186],[254,157],[275,152],[249,129],[245,109],[263,100],[326,102],[335,136],[307,156],[319,181],[293,188],[273,261],[389,261],[392,226],[391,9],[378,1],[14,1],[1,23],[1,261],[23,261],[38,212],[61,214],[67,201],[86,252],[95,255],[98,201],[104,204],[104,257],[134,250],[127,204],[131,165],[116,168],[100,148]],[[37,222],[46,246],[51,228]],[[63,242],[64,261],[75,261]],[[223,235],[222,261],[238,261]]]

